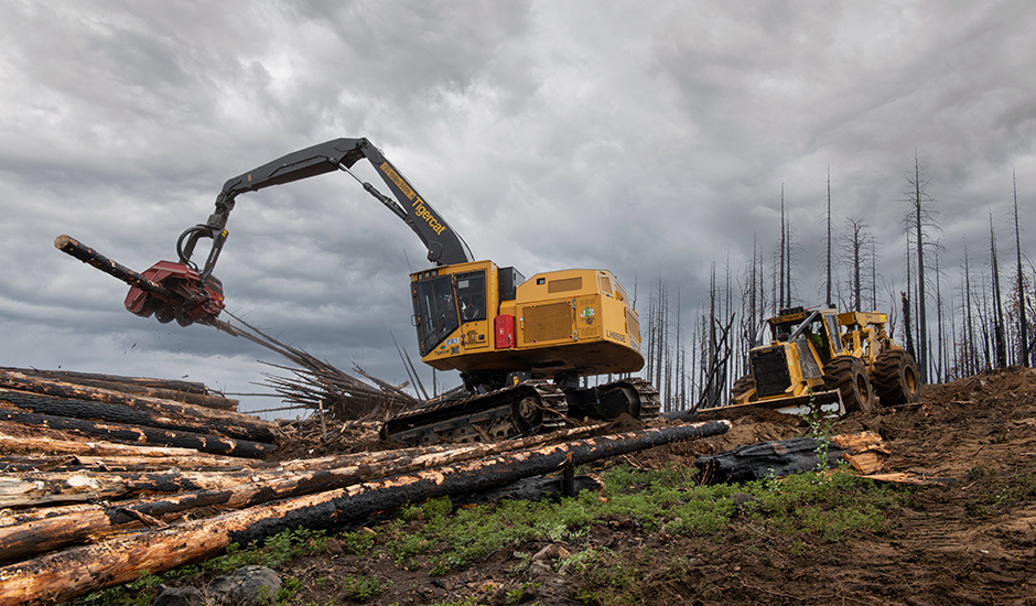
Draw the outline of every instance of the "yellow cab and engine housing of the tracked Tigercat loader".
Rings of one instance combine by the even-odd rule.
[[[492,261],[411,274],[421,359],[482,382],[635,372],[640,324],[609,271],[571,269],[525,280]],[[503,374],[503,375],[501,375]]]

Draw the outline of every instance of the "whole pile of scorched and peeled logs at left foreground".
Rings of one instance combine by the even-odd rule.
[[[522,478],[562,472],[553,485],[571,489],[574,466],[730,426],[603,436],[586,426],[278,461],[278,440],[358,440],[369,429],[353,422],[303,435],[239,414],[204,386],[143,382],[0,369],[0,606],[67,600],[214,558],[234,542],[506,490]],[[188,389],[202,398],[188,403]]]

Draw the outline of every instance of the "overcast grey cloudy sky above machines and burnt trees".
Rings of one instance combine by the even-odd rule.
[[[1036,210],[1027,0],[8,0],[0,32],[0,366],[257,391],[272,353],[129,314],[127,286],[53,241],[138,271],[175,260],[227,178],[338,137],[379,147],[476,258],[611,269],[641,312],[661,277],[689,318],[714,262],[740,273],[754,242],[776,248],[781,186],[796,297],[822,303],[829,171],[835,236],[866,223],[892,290],[915,150],[942,268],[965,238],[988,268],[990,217],[1014,257],[1013,171],[1023,225]],[[229,311],[406,380],[391,335],[417,356],[425,251],[356,182],[246,194],[228,229]]]

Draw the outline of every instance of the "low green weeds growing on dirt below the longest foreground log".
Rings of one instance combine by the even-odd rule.
[[[603,494],[584,491],[574,498],[538,502],[504,500],[454,510],[449,498],[432,499],[401,508],[395,519],[374,530],[343,531],[335,540],[353,556],[376,559],[385,554],[399,567],[427,570],[433,576],[530,541],[579,547],[594,524],[724,541],[731,539],[738,524],[747,522],[762,532],[795,537],[797,551],[805,552],[810,540],[838,542],[856,532],[888,531],[888,511],[907,495],[844,472],[811,472],[733,486],[700,486],[692,472],[676,465],[655,470],[616,467],[604,473]],[[985,476],[984,470],[976,469],[975,475],[980,474]],[[734,493],[746,493],[759,502],[751,510],[738,511],[731,498]],[[1036,466],[1016,474],[1010,490],[1000,498],[1003,502],[1032,496],[1036,496]],[[184,575],[215,576],[246,565],[277,569],[299,556],[325,553],[327,539],[324,531],[281,532],[261,543],[233,545],[224,556],[142,578],[138,584],[158,584]],[[638,594],[636,587],[647,564],[624,562],[601,551],[572,551],[575,554],[566,562],[568,570],[603,588],[584,595],[584,600],[624,604],[628,596]],[[527,567],[524,560],[515,572]],[[363,602],[384,593],[385,583],[376,577],[349,577],[343,581],[343,592],[349,599]],[[606,597],[607,592],[617,597]]]

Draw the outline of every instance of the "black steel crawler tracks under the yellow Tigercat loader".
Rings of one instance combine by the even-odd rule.
[[[658,390],[643,379],[565,389],[536,379],[401,412],[385,422],[381,437],[411,445],[493,442],[555,431],[569,419],[655,419],[659,408]]]

